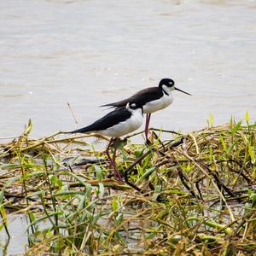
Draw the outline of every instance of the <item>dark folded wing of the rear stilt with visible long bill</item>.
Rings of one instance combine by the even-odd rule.
[[[108,103],[108,104],[102,105],[101,107],[112,107],[112,108],[125,107],[128,102],[139,102],[140,104],[144,105],[147,102],[158,100],[161,96],[163,96],[163,91],[159,87],[149,87],[149,88],[138,91],[136,94],[134,94],[129,98],[126,98],[125,100]]]

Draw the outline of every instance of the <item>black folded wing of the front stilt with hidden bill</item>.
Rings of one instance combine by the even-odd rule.
[[[84,128],[71,131],[70,133],[84,133],[89,131],[102,131],[106,130],[113,125],[117,125],[120,122],[125,121],[131,117],[131,112],[127,108],[117,108],[112,112],[106,114],[101,119],[96,120],[91,125],[88,125]]]

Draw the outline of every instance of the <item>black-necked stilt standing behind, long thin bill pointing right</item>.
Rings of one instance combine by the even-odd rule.
[[[147,113],[145,136],[148,141],[148,125],[151,117],[151,113],[154,113],[160,109],[168,107],[173,102],[172,90],[179,90],[189,96],[188,92],[175,87],[175,83],[172,79],[161,79],[158,87],[149,87],[144,90],[138,91],[133,96],[126,98],[123,101],[108,103],[101,107],[113,107],[119,108],[127,104],[127,102],[136,102],[143,105],[143,113]]]

